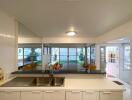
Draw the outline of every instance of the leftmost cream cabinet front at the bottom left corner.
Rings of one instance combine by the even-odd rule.
[[[0,91],[0,100],[20,100],[20,92]]]

